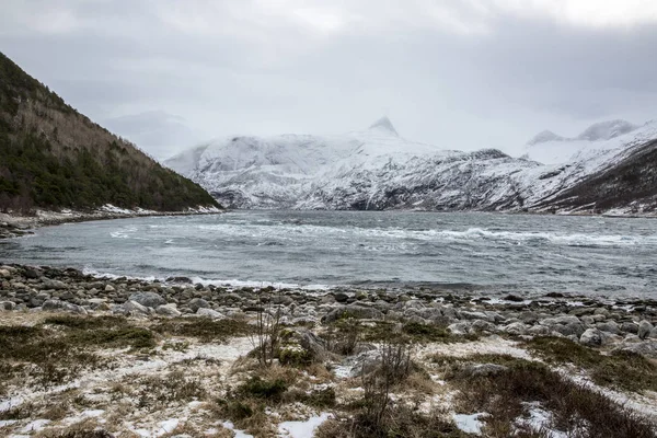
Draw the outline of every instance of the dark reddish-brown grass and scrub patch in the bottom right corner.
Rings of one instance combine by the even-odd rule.
[[[491,355],[488,355],[491,356]],[[492,357],[487,357],[492,361]],[[468,359],[457,359],[466,364]],[[458,412],[486,412],[491,437],[509,436],[527,403],[539,403],[553,414],[553,426],[574,438],[653,438],[653,426],[604,395],[562,378],[542,364],[499,357],[506,369],[488,374],[453,372],[451,384]]]

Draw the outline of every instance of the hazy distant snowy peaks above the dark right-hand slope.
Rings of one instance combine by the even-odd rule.
[[[578,157],[618,149],[635,139],[645,141],[646,134],[649,137],[654,129],[654,122],[639,127],[625,120],[609,120],[589,126],[575,138],[544,130],[527,142],[525,152],[531,160],[543,164],[566,163]]]

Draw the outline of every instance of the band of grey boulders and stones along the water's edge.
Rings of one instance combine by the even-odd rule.
[[[657,358],[654,299],[601,302],[562,293],[477,297],[425,288],[406,292],[230,288],[193,284],[187,277],[170,277],[166,281],[101,278],[73,268],[21,265],[1,266],[0,285],[0,306],[4,310],[221,319],[254,312],[263,306],[265,290],[275,292],[270,301],[281,306],[284,323],[290,325],[333,322],[348,313],[356,319],[437,323],[459,334],[564,336],[589,346],[618,345]]]

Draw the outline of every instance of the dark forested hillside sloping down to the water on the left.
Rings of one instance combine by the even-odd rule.
[[[0,53],[0,210],[105,204],[218,207],[199,185],[94,124]]]

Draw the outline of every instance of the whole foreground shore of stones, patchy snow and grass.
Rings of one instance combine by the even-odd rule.
[[[65,316],[68,320],[62,320]],[[80,321],[99,324],[113,321],[108,326],[101,324],[96,328],[110,333],[116,327],[130,327],[130,333],[142,330],[141,335],[148,338],[143,345],[130,344],[132,341],[125,344],[116,336],[105,346],[97,336],[91,343],[93,345],[74,344],[76,351],[77,348],[91,348],[94,355],[112,365],[92,365],[80,370],[79,376],[67,374],[53,384],[37,383],[43,383],[44,378],[39,373],[45,367],[38,361],[41,359],[16,354],[16,358],[3,361],[1,367],[10,370],[11,377],[0,382],[0,431],[7,431],[8,436],[78,437],[47,434],[65,434],[73,424],[81,423],[82,426],[76,427],[93,424],[91,430],[102,429],[107,434],[99,437],[233,436],[238,427],[254,436],[310,437],[312,435],[308,434],[322,422],[322,427],[315,430],[318,436],[366,436],[358,434],[358,427],[367,425],[355,426],[353,422],[365,415],[367,408],[358,411],[353,406],[354,400],[367,399],[365,376],[384,367],[385,348],[390,347],[387,343],[396,334],[404,338],[403,348],[407,350],[408,364],[413,365],[408,365],[408,376],[404,377],[406,383],[395,382],[399,387],[385,394],[382,411],[385,416],[379,418],[380,422],[395,418],[399,410],[408,407],[401,401],[412,396],[415,403],[413,415],[422,416],[418,424],[440,418],[440,427],[452,430],[452,435],[446,431],[446,435],[430,436],[504,436],[494,433],[502,426],[485,419],[498,416],[492,401],[468,405],[461,399],[468,399],[468,391],[472,391],[472,379],[497,384],[495,379],[502,379],[505,372],[512,370],[514,376],[520,376],[519,370],[527,370],[526,362],[537,362],[546,368],[534,370],[538,374],[531,378],[532,381],[556,379],[557,383],[576,384],[577,391],[590,392],[587,396],[604,397],[610,403],[609,410],[618,408],[632,422],[648,425],[641,429],[644,435],[627,431],[608,436],[655,436],[649,435],[655,433],[654,428],[646,433],[657,420],[657,301],[652,299],[611,302],[561,293],[487,297],[428,288],[395,291],[231,288],[194,284],[185,277],[165,281],[99,278],[73,268],[0,264],[0,320],[2,330],[9,331],[7,333],[14,330],[11,327],[30,326],[38,328],[36,337],[60,338],[58,336],[68,336],[67,331],[71,331],[70,339],[76,343],[89,336],[80,334],[88,332],[76,332],[88,330],[81,327],[90,324]],[[263,325],[263,321],[268,325]],[[198,332],[189,328],[193,326]],[[53,327],[64,327],[65,332],[57,328],[50,333]],[[207,332],[208,327],[217,332]],[[263,357],[253,353],[258,346],[254,337],[261,336],[262,345],[263,332],[266,334],[267,330],[269,338],[265,338],[265,344],[275,344],[276,351],[269,362],[265,357],[263,364]],[[9,343],[7,339],[11,341],[11,337],[8,335],[0,344]],[[33,339],[28,338],[28,342]],[[402,344],[394,345],[402,348]],[[11,346],[0,346],[11,349]],[[253,364],[247,364],[249,360]],[[196,365],[189,365],[192,362]],[[32,365],[25,368],[25,364]],[[183,382],[192,384],[188,379],[195,376],[194,382],[199,383],[203,391],[199,389],[192,391],[188,397],[182,396],[180,404],[176,404],[177,399],[169,404],[138,400],[139,396],[148,399],[139,391],[155,391],[148,390],[148,382],[140,379],[172,376],[181,369],[181,364],[187,364],[183,368],[185,374],[181,377]],[[30,370],[35,369],[41,370],[38,376],[30,377]],[[653,376],[653,380],[646,376]],[[130,384],[136,388],[141,384],[141,390],[122,390],[125,393],[116,395],[112,393],[116,390],[114,383],[107,379],[126,384],[130,379],[139,381],[142,383]],[[285,394],[301,391],[306,395],[293,401],[286,401],[283,395],[261,396],[260,390],[247,387],[249,382],[255,382],[253,379],[260,379],[261,383],[279,382],[286,388]],[[469,385],[461,387],[463,379],[470,382]],[[251,388],[249,391],[255,393],[246,394],[244,388]],[[73,389],[76,396],[88,399],[87,404],[77,405],[67,399],[68,407],[61,415],[35,407],[39,400],[61,397]],[[327,389],[332,391],[330,402],[310,401],[318,391]],[[242,399],[230,399],[237,393]],[[218,402],[227,397],[238,404]],[[115,418],[116,400],[127,410],[122,420]],[[562,436],[558,434],[569,434],[581,427],[557,420],[565,414],[550,400],[545,394],[539,400],[507,402],[521,406],[516,413],[518,417],[509,418],[510,426],[507,426],[534,434],[518,433],[516,436],[537,437]],[[20,406],[25,403],[31,403],[33,408],[21,413]],[[542,420],[537,419],[540,415],[544,417]],[[579,415],[593,422],[592,417],[587,417],[593,413],[583,408]],[[318,420],[320,417],[322,422]],[[42,423],[34,423],[38,420]],[[193,426],[195,422],[203,427]],[[286,422],[304,424],[307,435],[289,433],[281,426]],[[312,423],[314,426],[308,426],[308,422],[315,422]],[[350,424],[350,433],[346,424]],[[376,425],[367,427],[370,426]],[[636,430],[632,427],[638,426],[627,427],[627,430]]]

